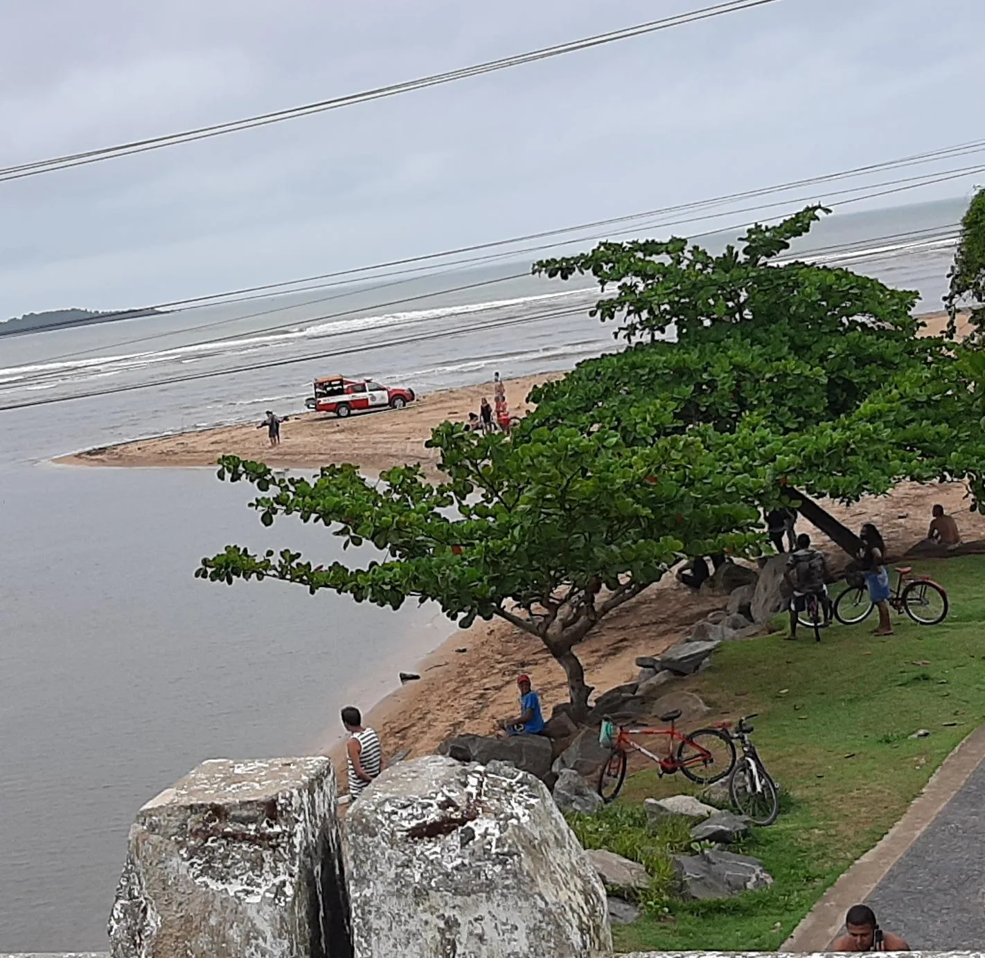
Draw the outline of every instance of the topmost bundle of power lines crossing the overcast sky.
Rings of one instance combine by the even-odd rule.
[[[411,93],[416,90],[424,90],[428,87],[441,86],[458,80],[465,80],[470,77],[482,76],[487,73],[494,73],[511,67],[522,66],[533,63],[537,60],[546,60],[565,53],[573,53],[579,50],[587,50],[596,46],[603,46],[614,43],[618,40],[629,39],[634,36],[642,36],[647,33],[670,30],[674,27],[682,27],[686,24],[697,23],[698,21],[708,20],[712,17],[720,17],[724,14],[736,13],[742,10],[749,10],[754,7],[765,6],[775,3],[777,0],[730,0],[727,3],[718,3],[709,7],[702,7],[687,13],[677,14],[673,17],[664,17],[660,20],[652,20],[648,23],[638,24],[635,27],[627,27],[623,30],[597,33],[593,36],[586,36],[583,39],[572,40],[567,43],[558,43],[554,46],[545,46],[527,53],[515,54],[513,56],[501,57],[496,60],[489,60],[470,67],[463,67],[457,70],[448,70],[444,73],[432,74],[421,77],[417,80],[406,81],[399,84],[390,84],[384,87],[376,87],[358,94],[348,96],[336,96],[331,99],[318,100],[313,103],[305,103],[301,106],[291,107],[290,109],[276,110],[270,113],[260,113],[255,116],[248,116],[240,120],[232,120],[227,123],[217,123],[211,126],[198,127],[192,130],[185,130],[180,133],[171,133],[164,136],[151,137],[143,140],[133,140],[128,143],[117,144],[112,147],[103,147],[99,150],[89,150],[84,153],[67,154],[61,157],[53,157],[48,160],[35,160],[20,165],[7,166],[0,168],[0,181],[21,179],[26,176],[37,176],[41,173],[48,173],[58,169],[67,169],[72,166],[82,166],[88,163],[110,160],[116,157],[132,156],[138,153],[146,153],[151,150],[161,150],[165,147],[176,146],[181,143],[191,143],[196,140],[206,140],[212,137],[224,136],[228,133],[236,133],[240,130],[253,129],[259,126],[267,126],[272,123],[282,123],[286,120],[293,120],[301,116],[310,116],[313,113],[322,113],[327,110],[340,109],[345,106],[352,106],[356,103],[367,102],[373,99],[381,99],[385,96],[398,96],[400,94]]]

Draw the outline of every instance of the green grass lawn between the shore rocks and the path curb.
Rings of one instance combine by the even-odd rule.
[[[736,851],[761,859],[775,881],[723,902],[655,898],[639,922],[614,928],[618,950],[775,950],[985,721],[985,557],[922,562],[915,571],[947,588],[944,624],[918,626],[893,613],[895,635],[876,638],[874,613],[861,625],[831,626],[821,644],[805,629],[796,643],[783,633],[726,643],[711,668],[676,686],[700,695],[711,719],[759,714],[753,737],[784,790],[783,810]],[[917,729],[932,734],[909,738]],[[681,775],[661,780],[643,770],[626,780],[617,804],[696,791]],[[615,814],[639,820],[631,808]],[[666,873],[652,862],[651,870]]]

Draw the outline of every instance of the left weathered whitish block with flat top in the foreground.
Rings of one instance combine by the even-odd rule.
[[[344,958],[348,900],[327,758],[203,762],[141,808],[112,958]]]

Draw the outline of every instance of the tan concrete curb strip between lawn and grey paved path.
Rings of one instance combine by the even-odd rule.
[[[864,902],[903,853],[920,837],[942,808],[985,760],[985,726],[964,738],[930,777],[882,841],[866,852],[821,896],[780,947],[784,952],[828,949],[841,930],[845,912]]]

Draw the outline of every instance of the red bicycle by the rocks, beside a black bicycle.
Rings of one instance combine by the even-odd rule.
[[[736,764],[736,746],[731,735],[724,731],[727,726],[697,729],[685,734],[674,728],[674,723],[680,718],[681,710],[675,709],[660,716],[661,722],[670,723],[669,729],[626,729],[616,725],[609,716],[605,717],[599,742],[604,747],[611,748],[612,754],[599,773],[599,795],[604,801],[612,801],[623,788],[630,748],[656,762],[661,778],[675,772],[684,772],[691,782],[711,785],[732,771]],[[667,739],[667,754],[655,755],[633,741],[630,737],[632,735],[662,735]],[[676,753],[674,742],[678,742]]]

